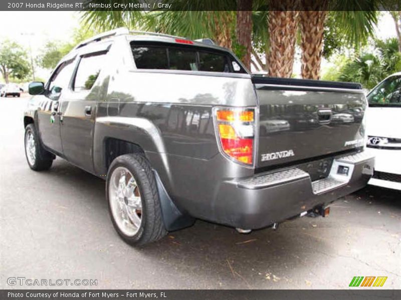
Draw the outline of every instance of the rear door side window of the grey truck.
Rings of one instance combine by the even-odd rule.
[[[99,76],[106,54],[82,56],[73,84],[75,91],[90,90]]]

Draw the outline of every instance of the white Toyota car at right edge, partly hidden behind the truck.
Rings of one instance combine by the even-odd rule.
[[[369,184],[401,190],[401,72],[367,95],[367,149],[375,155]]]

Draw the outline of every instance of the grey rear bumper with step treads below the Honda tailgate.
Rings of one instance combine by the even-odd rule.
[[[311,181],[296,167],[224,181],[215,205],[215,221],[257,229],[299,215],[364,187],[373,173],[374,158],[366,152],[335,157],[327,178]],[[348,175],[337,174],[339,166]]]

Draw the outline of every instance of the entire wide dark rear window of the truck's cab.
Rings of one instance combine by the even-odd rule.
[[[229,54],[194,46],[137,44],[131,42],[138,69],[170,69],[207,72],[246,73]]]

